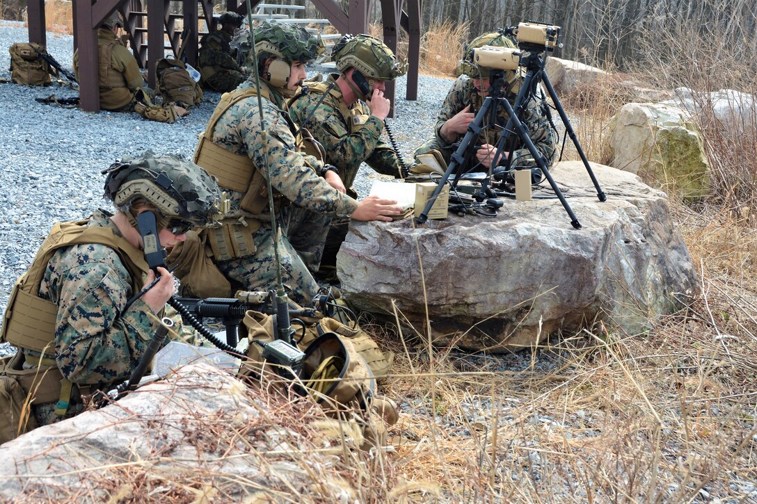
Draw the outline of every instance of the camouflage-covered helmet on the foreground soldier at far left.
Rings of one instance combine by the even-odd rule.
[[[138,198],[157,209],[157,229],[170,225],[176,235],[223,217],[215,179],[180,155],[145,151],[142,157],[123,157],[102,173],[107,173],[104,197],[121,209],[128,208],[129,222],[134,219],[130,206]]]

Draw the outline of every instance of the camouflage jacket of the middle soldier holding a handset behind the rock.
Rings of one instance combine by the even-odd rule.
[[[338,75],[331,75],[326,84]],[[378,173],[400,177],[400,162],[397,154],[381,138],[384,121],[372,116],[369,108],[360,101],[347,107],[338,86],[316,107],[322,98],[322,86],[316,86],[300,95],[289,105],[289,113],[295,123],[307,128],[326,151],[328,164],[336,166],[344,187],[350,188],[357,177],[360,163]],[[310,113],[307,124],[303,124]]]

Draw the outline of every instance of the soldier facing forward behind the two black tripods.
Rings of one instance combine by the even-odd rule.
[[[481,105],[484,102],[484,97],[479,95],[479,90],[476,89],[475,79],[483,79],[484,85],[482,85],[481,87],[483,87],[483,91],[485,91],[485,86],[488,84],[490,69],[477,67],[472,64],[471,60],[472,49],[481,47],[483,45],[495,45],[512,48],[515,47],[515,45],[506,38],[506,36],[504,36],[502,33],[496,32],[485,33],[484,35],[478,36],[473,39],[472,42],[470,42],[470,44],[466,48],[466,54],[463,58],[463,61],[460,61],[460,65],[458,67],[458,73],[462,73],[462,75],[459,75],[459,77],[455,80],[452,89],[450,89],[450,92],[447,93],[447,98],[444,98],[444,103],[441,106],[441,110],[439,110],[435,126],[435,136],[433,138],[429,138],[428,141],[426,141],[416,150],[416,156],[418,154],[422,154],[431,150],[437,150],[441,152],[444,160],[447,163],[450,163],[450,157],[457,148],[454,143],[462,140],[464,134],[453,133],[451,134],[451,136],[453,136],[454,138],[451,138],[450,141],[449,138],[444,138],[441,129],[448,120],[452,119],[456,116],[456,114],[459,114],[460,112],[465,110],[466,107],[469,107],[469,113],[475,116],[475,113],[481,108]],[[506,79],[508,81],[506,98],[512,105],[515,104],[517,91],[519,89],[518,85],[520,82],[522,82],[523,77],[519,75],[516,76],[515,73],[508,70],[506,72]],[[545,111],[546,107],[547,103],[543,98],[532,99],[525,107],[521,120],[525,128],[528,130],[528,136],[531,138],[531,141],[534,142],[536,148],[544,155],[545,159],[547,160],[547,166],[550,166],[556,157],[557,136],[555,130],[547,119],[547,113]],[[481,132],[481,135],[478,138],[477,143],[479,145],[496,145],[499,141],[501,136],[500,130],[506,125],[509,116],[506,113],[506,110],[503,110],[501,108],[500,110],[498,110],[498,113],[499,114],[497,114],[496,124],[500,127],[490,127],[488,129],[484,129],[484,131]],[[522,145],[520,138],[515,133],[509,135],[507,144],[504,146],[503,150],[505,152],[512,151],[512,166],[536,166],[536,163],[534,163],[532,159],[533,156],[531,156],[528,148],[525,148],[525,145]],[[503,163],[504,160],[500,161],[500,164]],[[486,169],[486,166],[479,165],[479,167],[479,171]],[[475,170],[474,166],[471,166],[471,168]]]

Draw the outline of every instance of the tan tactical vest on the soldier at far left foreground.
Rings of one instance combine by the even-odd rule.
[[[72,397],[78,399],[82,394],[89,394],[89,390],[85,386],[76,387],[65,379],[55,363],[58,305],[39,297],[39,285],[52,254],[61,247],[76,244],[103,244],[111,247],[128,269],[134,292],[139,292],[142,288],[142,275],[146,275],[149,269],[142,251],[126,238],[115,235],[110,228],[87,226],[88,222],[56,222],[52,226],[50,234],[39,247],[32,266],[13,286],[0,328],[0,342],[7,341],[19,349],[34,350],[41,354],[34,357],[24,355],[19,350],[4,373],[19,381],[23,391],[33,397],[32,404],[58,400],[56,413],[60,416],[66,413]],[[23,371],[23,359],[35,367]]]

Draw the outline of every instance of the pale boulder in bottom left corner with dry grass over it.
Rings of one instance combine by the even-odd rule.
[[[334,421],[209,364],[185,366],[0,446],[0,501],[353,502],[343,448],[329,449],[319,422]]]

